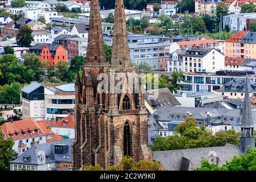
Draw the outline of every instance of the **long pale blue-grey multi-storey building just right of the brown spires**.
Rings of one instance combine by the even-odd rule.
[[[167,71],[170,42],[157,44],[129,44],[131,61],[134,64],[146,62],[155,70]],[[160,62],[159,62],[160,61]]]

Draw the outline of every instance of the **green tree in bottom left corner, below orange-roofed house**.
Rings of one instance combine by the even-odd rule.
[[[13,151],[13,138],[5,139],[4,136],[3,131],[0,130],[0,171],[10,171],[9,162],[17,158],[18,154]]]

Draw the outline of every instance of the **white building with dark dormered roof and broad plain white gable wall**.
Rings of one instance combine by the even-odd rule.
[[[183,56],[183,72],[216,72],[225,69],[225,56],[215,48],[190,48]]]

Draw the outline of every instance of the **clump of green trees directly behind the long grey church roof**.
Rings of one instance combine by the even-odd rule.
[[[240,134],[234,130],[220,131],[215,135],[205,126],[196,126],[196,119],[185,117],[185,121],[174,128],[174,135],[158,136],[153,140],[153,151],[180,150],[186,148],[218,147],[227,143],[239,145]]]

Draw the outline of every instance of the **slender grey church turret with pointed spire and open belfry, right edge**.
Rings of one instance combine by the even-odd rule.
[[[250,102],[250,80],[246,77],[245,82],[245,100],[243,104],[243,116],[241,125],[241,148],[242,151],[247,154],[246,150],[248,146],[255,148],[255,136],[254,136],[254,126],[253,117],[251,115],[251,102]]]

